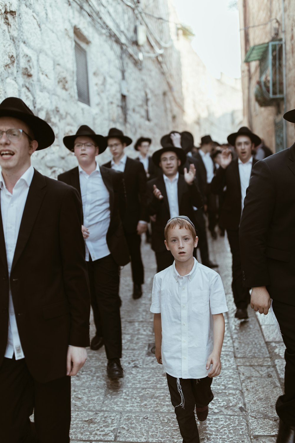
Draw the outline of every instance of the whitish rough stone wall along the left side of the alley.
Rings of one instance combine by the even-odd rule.
[[[206,68],[181,37],[174,16],[170,0],[0,0],[0,99],[22,98],[56,135],[52,147],[32,157],[39,171],[56,178],[77,165],[62,138],[81,124],[103,135],[117,127],[134,141],[150,136],[156,150],[172,129],[191,130],[199,138],[211,129],[200,124],[209,113],[212,121],[222,118],[210,111],[216,97],[204,97]],[[142,46],[136,41],[138,24],[147,33]],[[78,101],[75,41],[87,53],[90,106]],[[192,73],[185,65],[188,52]],[[241,115],[241,87],[219,81],[217,89],[220,109],[229,91],[234,97],[234,114],[226,110],[225,119]],[[229,120],[230,132],[236,121]],[[127,154],[135,157],[133,146]],[[99,163],[109,158],[107,150]]]

